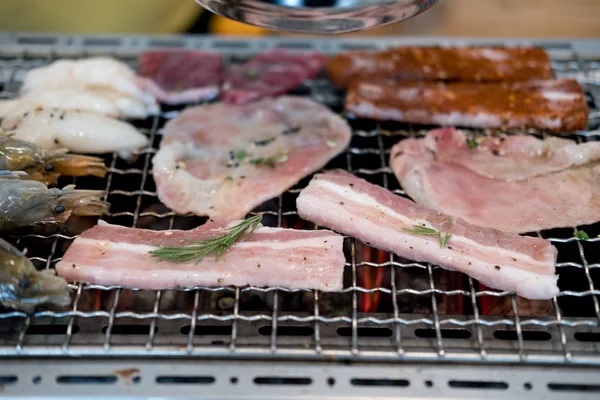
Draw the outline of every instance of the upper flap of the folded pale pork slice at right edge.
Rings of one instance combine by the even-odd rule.
[[[460,164],[478,175],[505,181],[529,179],[600,160],[600,142],[531,135],[469,138],[454,128],[436,129],[423,139],[437,161]]]

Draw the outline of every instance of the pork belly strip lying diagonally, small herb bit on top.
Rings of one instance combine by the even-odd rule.
[[[316,175],[297,200],[304,219],[410,260],[463,272],[529,299],[558,293],[557,251],[546,240],[480,228],[427,209],[346,172]],[[407,232],[415,226],[452,237]]]

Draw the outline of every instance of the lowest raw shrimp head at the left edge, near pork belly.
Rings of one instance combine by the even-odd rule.
[[[31,261],[0,239],[0,303],[26,312],[38,304],[66,306],[71,302],[67,282],[54,270],[37,271]]]

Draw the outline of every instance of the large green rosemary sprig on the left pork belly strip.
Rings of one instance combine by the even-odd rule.
[[[186,240],[186,242],[193,243],[190,246],[159,245],[156,250],[151,250],[148,253],[160,261],[185,262],[195,259],[196,264],[207,255],[215,253],[215,261],[219,261],[219,258],[233,246],[244,232],[252,233],[260,224],[261,219],[262,216],[255,215],[228,228],[227,233],[224,235],[202,241]]]

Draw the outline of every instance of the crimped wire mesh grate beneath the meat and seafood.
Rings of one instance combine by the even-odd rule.
[[[0,35],[0,98],[15,95],[27,70],[63,57],[108,54],[134,66],[136,54],[165,45],[217,49],[227,54],[230,62],[239,62],[277,45],[332,53],[435,43],[441,42]],[[517,43],[520,42],[509,44]],[[598,42],[594,43],[595,46],[578,44],[581,51],[570,43],[542,43],[549,49],[557,76],[576,78],[586,86],[592,108],[590,130],[577,133],[574,137],[578,141],[597,140],[600,136],[597,130],[600,93],[596,86],[600,84],[600,52],[589,52],[590,48],[597,50]],[[341,111],[340,93],[324,77],[306,82],[295,93]],[[179,110],[163,109],[160,116],[136,123],[153,143],[136,162],[127,164],[116,155],[108,156],[110,173],[106,179],[80,178],[75,182],[80,188],[104,188],[112,204],[111,213],[105,217],[108,222],[167,229],[190,228],[203,221],[161,209],[149,174],[161,129]],[[404,195],[388,167],[390,148],[403,137],[423,131],[365,120],[350,123],[353,127],[350,147],[327,168],[345,168]],[[258,210],[265,215],[266,224],[289,227],[301,224],[294,204],[307,181],[302,180]],[[345,288],[340,293],[275,287],[135,291],[76,285],[71,308],[40,309],[32,315],[16,311],[1,313],[0,355],[600,364],[600,290],[597,289],[600,238],[596,237],[600,225],[585,227],[593,237],[587,242],[572,236],[576,229],[579,227],[537,233],[559,249],[557,270],[561,292],[551,301],[534,303],[510,293],[491,291],[462,274],[403,260],[346,238],[347,271]],[[53,268],[75,237],[73,232],[36,232],[9,239],[21,248],[28,248],[38,267]],[[370,271],[365,273],[367,269]],[[383,274],[378,274],[378,269]],[[379,280],[367,284],[367,278],[374,276]]]

